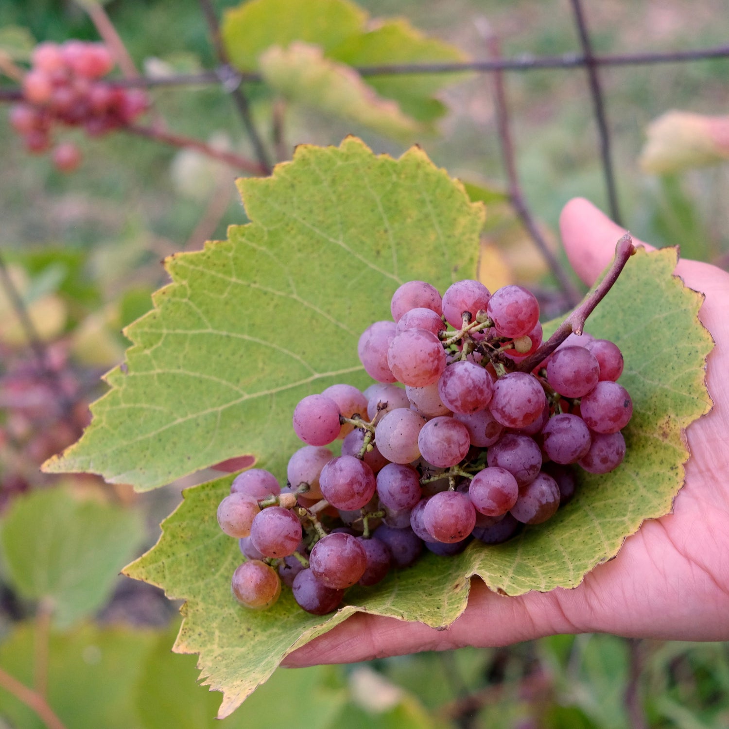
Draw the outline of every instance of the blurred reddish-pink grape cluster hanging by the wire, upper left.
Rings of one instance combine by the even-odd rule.
[[[32,67],[23,77],[23,102],[10,109],[10,123],[23,135],[28,152],[51,147],[53,125],[83,127],[98,136],[130,124],[149,102],[144,91],[117,88],[101,80],[114,68],[109,49],[77,40],[36,46]],[[70,142],[52,150],[55,166],[70,172],[81,152]]]

